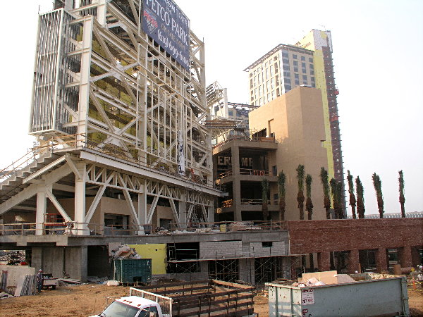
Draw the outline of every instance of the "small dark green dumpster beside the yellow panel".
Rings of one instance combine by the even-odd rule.
[[[148,284],[152,280],[152,259],[114,260],[114,280],[127,285]]]

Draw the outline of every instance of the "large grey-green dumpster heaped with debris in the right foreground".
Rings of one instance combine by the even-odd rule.
[[[369,274],[367,278],[371,278]],[[266,283],[269,316],[409,316],[405,276],[298,287]]]

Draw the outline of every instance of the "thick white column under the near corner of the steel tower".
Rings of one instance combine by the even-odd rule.
[[[87,176],[86,164],[78,163],[79,175],[75,175],[75,235],[90,235],[88,225],[85,223],[85,178]]]

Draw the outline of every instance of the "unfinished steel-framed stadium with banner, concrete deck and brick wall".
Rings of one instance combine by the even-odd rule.
[[[388,248],[404,266],[420,261],[422,219],[213,223],[226,193],[213,182],[218,123],[204,69],[204,44],[173,1],[56,0],[39,15],[37,145],[1,171],[0,249],[23,249],[31,266],[79,280],[111,277],[116,244],[140,249],[154,275],[252,284],[295,278],[311,252],[322,270],[335,251],[349,259],[337,263],[345,270],[365,249],[376,249],[379,271]],[[376,235],[393,221],[401,239]]]

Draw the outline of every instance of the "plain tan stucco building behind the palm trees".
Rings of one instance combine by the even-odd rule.
[[[328,168],[321,92],[312,87],[296,87],[281,97],[250,112],[250,128],[261,135],[274,137],[276,151],[269,152],[269,168],[286,174],[286,219],[299,219],[295,168],[305,166],[312,175],[313,219],[324,219],[325,211],[319,178],[321,167]],[[271,182],[270,197],[277,194]],[[305,213],[307,218],[307,213]]]

